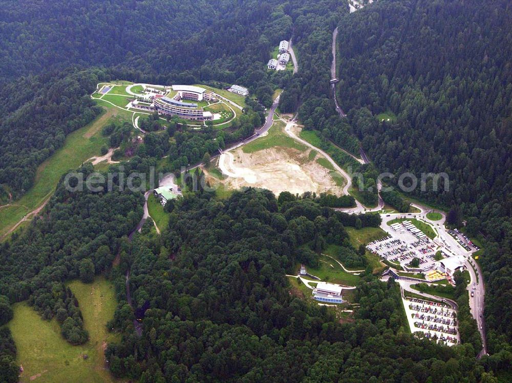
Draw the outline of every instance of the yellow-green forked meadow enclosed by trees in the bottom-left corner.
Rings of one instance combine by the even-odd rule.
[[[90,340],[72,346],[61,336],[55,319],[43,320],[26,302],[14,304],[14,319],[8,326],[16,343],[17,362],[24,368],[19,380],[22,383],[34,379],[38,383],[115,381],[105,368],[103,353],[106,343],[119,341],[105,326],[114,317],[117,304],[114,287],[104,278],[88,285],[74,281],[69,286],[78,300]]]

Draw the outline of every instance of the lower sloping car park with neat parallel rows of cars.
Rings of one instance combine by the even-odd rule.
[[[402,298],[412,333],[449,346],[460,342],[457,312],[449,305],[415,298]]]

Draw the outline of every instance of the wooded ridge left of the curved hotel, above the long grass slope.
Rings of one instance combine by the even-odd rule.
[[[0,87],[0,184],[14,197],[32,186],[37,166],[70,132],[100,113],[89,95],[101,76],[99,71],[70,70]]]

